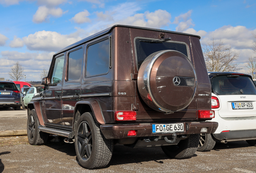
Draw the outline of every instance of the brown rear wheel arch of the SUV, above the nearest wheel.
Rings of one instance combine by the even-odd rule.
[[[105,124],[105,119],[103,117],[99,102],[95,99],[87,99],[85,101],[78,101],[75,105],[72,125],[73,131],[79,117],[81,117],[81,115],[86,112],[92,112],[96,122],[99,125]]]

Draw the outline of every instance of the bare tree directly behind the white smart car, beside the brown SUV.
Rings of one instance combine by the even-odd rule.
[[[239,53],[231,51],[231,47],[225,46],[220,40],[215,42],[214,38],[211,43],[203,47],[204,59],[208,71],[237,71],[235,60],[239,57]]]

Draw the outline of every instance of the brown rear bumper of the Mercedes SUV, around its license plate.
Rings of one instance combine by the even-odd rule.
[[[200,134],[203,127],[207,128],[206,133],[214,133],[218,127],[217,122],[180,122],[184,123],[185,131],[176,133],[177,135]],[[173,133],[153,134],[152,124],[158,123],[138,123],[138,124],[103,124],[100,126],[101,132],[106,139],[128,138],[128,131],[136,130],[137,135],[132,137],[151,137],[161,135],[173,135]]]

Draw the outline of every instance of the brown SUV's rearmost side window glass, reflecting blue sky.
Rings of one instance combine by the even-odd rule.
[[[109,39],[97,42],[87,48],[86,76],[96,76],[108,72],[109,49]]]

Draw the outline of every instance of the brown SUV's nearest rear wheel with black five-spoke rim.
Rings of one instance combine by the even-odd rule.
[[[101,133],[93,113],[83,113],[75,127],[75,150],[79,163],[87,169],[107,166],[113,153],[113,140]]]

